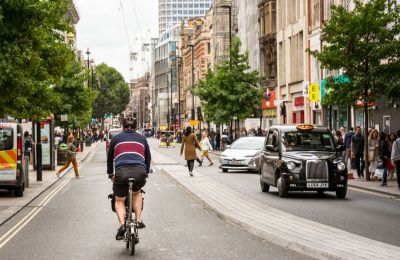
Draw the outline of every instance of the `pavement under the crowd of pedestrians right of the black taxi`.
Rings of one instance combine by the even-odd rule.
[[[222,151],[210,151],[210,153],[220,156]],[[400,197],[400,190],[398,188],[396,179],[391,181],[388,180],[387,186],[381,186],[382,181],[366,181],[365,178],[357,178],[357,174],[354,174],[353,171],[350,172],[353,173],[354,179],[349,179],[349,187]]]

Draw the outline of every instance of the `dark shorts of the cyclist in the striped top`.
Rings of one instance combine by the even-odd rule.
[[[124,166],[115,169],[113,191],[115,196],[125,197],[129,194],[129,178],[135,178],[133,191],[138,192],[146,184],[147,171],[141,166]]]

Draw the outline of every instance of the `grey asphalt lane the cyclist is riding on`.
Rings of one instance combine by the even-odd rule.
[[[171,150],[172,151],[172,150]],[[29,207],[0,227],[1,259],[127,259],[125,244],[115,240],[118,227],[107,195],[111,182],[105,174],[105,149],[81,169],[82,179],[64,176]],[[55,191],[58,190],[58,193]],[[201,206],[159,171],[146,185],[143,221],[137,259],[306,259],[271,245],[225,222]],[[54,192],[54,193],[53,193]],[[43,199],[54,194],[48,203]],[[38,207],[39,205],[39,207]],[[37,215],[23,221],[32,210]],[[22,222],[20,222],[22,221]],[[20,223],[16,226],[17,223]],[[23,226],[26,224],[25,226]],[[18,227],[18,228],[14,228]]]

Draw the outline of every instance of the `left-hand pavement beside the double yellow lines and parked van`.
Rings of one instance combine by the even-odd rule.
[[[94,151],[98,143],[93,143],[91,147],[84,147],[83,152],[77,154],[78,167],[79,163],[86,160],[86,158]],[[56,161],[57,163],[57,161]],[[43,170],[42,181],[36,180],[36,171],[33,170],[30,165],[29,170],[29,187],[25,188],[24,196],[17,198],[14,197],[13,193],[7,193],[4,190],[0,192],[0,226],[3,225],[8,219],[17,214],[31,201],[37,198],[40,194],[49,189],[58,180],[56,176],[57,169],[61,168],[62,165],[56,165],[55,170]],[[68,170],[64,171],[64,174],[72,169],[72,165]]]

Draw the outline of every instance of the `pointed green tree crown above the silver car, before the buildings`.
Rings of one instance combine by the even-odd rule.
[[[239,38],[233,38],[230,61],[217,65],[215,73],[208,68],[206,78],[193,89],[200,97],[207,121],[219,124],[230,122],[233,116],[245,119],[261,106],[258,71],[248,72],[248,54],[239,53],[240,45]]]

